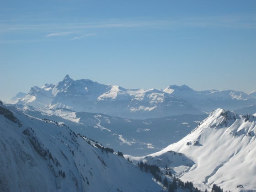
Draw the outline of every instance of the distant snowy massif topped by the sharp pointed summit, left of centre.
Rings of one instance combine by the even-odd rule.
[[[61,107],[77,112],[96,112],[125,118],[203,114],[187,101],[163,91],[124,89],[91,80],[72,80],[69,75],[56,85],[32,87],[16,104],[51,109]]]

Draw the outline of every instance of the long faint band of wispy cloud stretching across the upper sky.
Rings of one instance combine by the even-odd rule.
[[[256,14],[187,17],[166,20],[101,20],[91,22],[48,21],[38,22],[22,20],[0,20],[0,32],[16,31],[66,31],[48,34],[47,37],[68,35],[70,31],[96,28],[139,28],[139,27],[225,27],[256,28]]]

